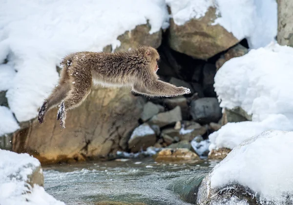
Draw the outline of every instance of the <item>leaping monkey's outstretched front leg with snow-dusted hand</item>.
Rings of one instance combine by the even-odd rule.
[[[176,87],[175,85],[160,80],[148,80],[145,83],[145,87],[147,92],[152,96],[174,97],[190,93],[190,90],[186,87]]]

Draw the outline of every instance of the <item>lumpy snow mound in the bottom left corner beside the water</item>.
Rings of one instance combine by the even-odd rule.
[[[28,175],[41,166],[28,154],[0,150],[0,204],[1,205],[65,205],[47,194],[42,186],[31,188]],[[41,169],[42,171],[42,169]]]

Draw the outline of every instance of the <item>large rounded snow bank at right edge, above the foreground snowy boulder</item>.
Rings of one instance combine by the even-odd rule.
[[[226,62],[215,76],[220,106],[240,106],[252,122],[228,123],[209,135],[209,149],[232,149],[269,129],[293,130],[293,48],[272,43]]]

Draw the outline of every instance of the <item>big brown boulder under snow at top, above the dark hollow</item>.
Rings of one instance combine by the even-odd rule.
[[[180,53],[206,60],[238,43],[239,40],[221,25],[212,25],[217,18],[215,12],[216,9],[210,7],[204,17],[191,19],[183,25],[177,25],[171,19],[169,46]]]

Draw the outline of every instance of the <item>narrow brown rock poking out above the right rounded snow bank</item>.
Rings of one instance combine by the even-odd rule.
[[[239,43],[231,47],[224,55],[221,55],[221,57],[217,60],[216,71],[218,71],[220,67],[222,67],[222,65],[230,59],[244,56],[247,53],[248,49]]]

